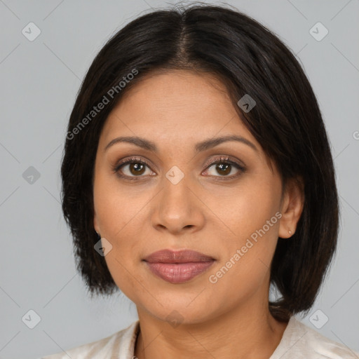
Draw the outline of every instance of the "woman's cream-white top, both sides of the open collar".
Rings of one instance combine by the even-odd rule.
[[[134,359],[139,321],[109,337],[39,359]],[[343,344],[324,337],[292,316],[269,359],[359,359]]]

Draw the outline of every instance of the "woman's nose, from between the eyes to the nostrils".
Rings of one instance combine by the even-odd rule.
[[[158,231],[194,233],[203,228],[205,205],[199,187],[184,176],[179,182],[163,177],[163,187],[153,205],[151,223]],[[192,182],[192,183],[191,183]]]

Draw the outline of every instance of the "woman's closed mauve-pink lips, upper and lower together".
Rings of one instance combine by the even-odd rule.
[[[159,250],[143,260],[152,273],[172,284],[191,280],[215,262],[214,258],[194,250]]]

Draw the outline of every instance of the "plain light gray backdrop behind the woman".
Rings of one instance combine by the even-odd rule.
[[[98,50],[137,15],[167,4],[172,3],[0,0],[2,359],[57,353],[137,319],[135,305],[123,294],[93,300],[86,295],[60,208],[60,160],[76,92]],[[359,1],[228,4],[292,48],[318,97],[335,157],[341,232],[330,276],[313,310],[299,319],[359,351]],[[29,22],[41,29],[34,41],[22,34]],[[321,41],[309,32],[317,22],[329,31]],[[40,174],[32,184],[23,177],[30,166]],[[30,309],[41,317],[34,329],[22,321],[27,315],[27,323],[34,323]]]

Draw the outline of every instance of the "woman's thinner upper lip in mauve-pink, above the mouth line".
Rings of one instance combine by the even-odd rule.
[[[158,250],[144,258],[144,261],[149,263],[190,263],[213,260],[215,259],[195,250]]]

